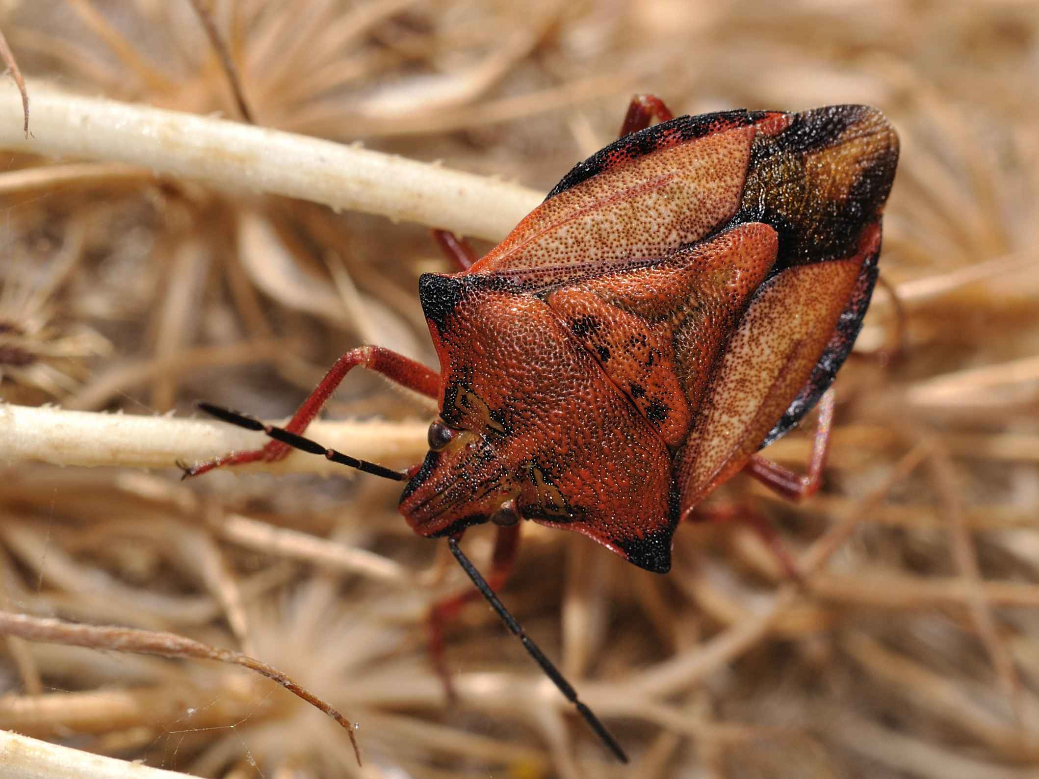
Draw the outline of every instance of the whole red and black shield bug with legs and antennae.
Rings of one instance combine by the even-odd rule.
[[[659,99],[636,98],[619,140],[574,167],[485,257],[436,234],[462,267],[419,279],[439,372],[365,346],[339,359],[284,429],[202,404],[274,440],[186,475],[296,448],[406,481],[400,511],[411,528],[448,537],[480,593],[623,760],[458,539],[470,526],[499,526],[496,586],[522,520],[582,533],[664,573],[678,522],[736,473],[791,496],[812,491],[826,423],[809,478],[755,453],[807,413],[851,351],[898,154],[890,125],[865,106],[672,118]],[[355,366],[438,402],[421,464],[398,472],[299,435]]]

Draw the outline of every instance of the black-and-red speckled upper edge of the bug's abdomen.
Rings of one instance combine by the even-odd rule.
[[[677,116],[669,122],[647,127],[637,133],[618,138],[605,149],[601,149],[584,162],[575,165],[562,181],[557,184],[545,200],[552,199],[560,192],[588,181],[593,176],[624,161],[634,160],[652,154],[660,147],[666,136],[677,133],[678,141],[702,138],[721,128],[745,127],[752,125],[766,115],[764,111],[748,111],[738,108],[731,111],[717,113],[701,113],[697,116]]]

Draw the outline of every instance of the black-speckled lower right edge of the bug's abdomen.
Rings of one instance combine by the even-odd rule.
[[[811,371],[811,375],[805,382],[801,392],[794,398],[790,407],[779,418],[762,446],[764,449],[769,444],[781,438],[790,432],[797,424],[810,411],[823,393],[830,388],[836,378],[837,371],[844,365],[848,355],[851,354],[855,339],[858,338],[859,330],[862,329],[862,319],[865,317],[865,310],[870,307],[870,299],[873,297],[873,289],[877,284],[877,260],[880,258],[880,247],[877,251],[865,259],[862,268],[858,272],[858,279],[855,281],[855,290],[852,292],[851,300],[837,319],[837,326],[833,330],[833,335],[826,344],[819,361]]]

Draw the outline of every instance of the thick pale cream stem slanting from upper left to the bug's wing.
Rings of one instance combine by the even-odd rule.
[[[21,103],[0,88],[0,149],[142,165],[228,189],[501,240],[542,193],[441,165],[292,133],[83,98],[33,86],[33,137],[15,131]]]

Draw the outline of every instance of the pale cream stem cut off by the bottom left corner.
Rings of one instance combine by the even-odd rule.
[[[7,779],[184,779],[175,771],[91,755],[0,730],[0,767]]]

